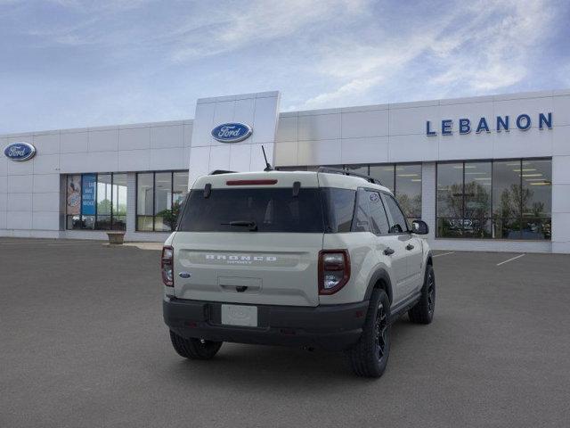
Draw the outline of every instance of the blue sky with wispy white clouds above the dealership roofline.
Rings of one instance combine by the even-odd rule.
[[[570,88],[570,2],[0,0],[0,134]]]

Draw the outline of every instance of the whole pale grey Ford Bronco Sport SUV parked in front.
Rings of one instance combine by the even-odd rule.
[[[428,226],[411,227],[386,187],[345,170],[200,177],[162,251],[176,352],[208,359],[222,342],[344,350],[355,374],[379,377],[392,322],[434,316],[419,237]]]

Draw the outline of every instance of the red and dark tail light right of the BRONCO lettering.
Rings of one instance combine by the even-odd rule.
[[[350,279],[350,257],[346,250],[319,252],[319,294],[334,294]]]

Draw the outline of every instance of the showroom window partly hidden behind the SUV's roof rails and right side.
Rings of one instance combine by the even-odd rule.
[[[327,165],[379,179],[395,194],[408,221],[421,218],[421,163],[386,165]],[[314,171],[319,167],[279,167],[282,171]]]

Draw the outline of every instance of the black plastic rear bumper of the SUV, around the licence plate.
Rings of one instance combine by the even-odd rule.
[[[222,325],[222,303],[165,297],[164,321],[186,338],[346,350],[358,341],[369,302],[310,307],[257,306],[257,327]]]

